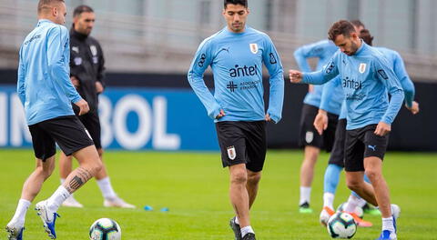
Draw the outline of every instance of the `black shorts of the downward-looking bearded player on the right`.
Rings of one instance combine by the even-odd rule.
[[[364,127],[347,130],[345,144],[344,166],[347,172],[364,171],[364,158],[376,156],[384,159],[389,135],[375,135],[377,125],[366,125]]]

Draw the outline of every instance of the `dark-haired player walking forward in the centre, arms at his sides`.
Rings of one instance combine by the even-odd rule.
[[[198,47],[188,81],[216,123],[223,167],[229,167],[230,220],[235,239],[255,239],[249,209],[257,196],[267,151],[266,122],[281,118],[284,79],[282,65],[268,35],[246,25],[247,0],[225,0],[227,26]],[[262,64],[269,70],[269,108],[264,109]],[[215,93],[204,83],[211,66]]]

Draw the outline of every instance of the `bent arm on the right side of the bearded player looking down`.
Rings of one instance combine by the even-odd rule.
[[[385,58],[375,58],[373,67],[376,78],[385,85],[391,95],[389,107],[375,130],[376,135],[386,135],[391,131],[391,123],[401,109],[404,95],[398,77],[391,70]]]

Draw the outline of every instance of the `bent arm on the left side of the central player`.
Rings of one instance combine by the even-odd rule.
[[[219,118],[225,115],[216,98],[211,94],[205,81],[203,74],[212,63],[211,39],[206,39],[198,46],[198,52],[194,56],[188,70],[188,82],[193,88],[196,95],[205,106],[210,118]]]

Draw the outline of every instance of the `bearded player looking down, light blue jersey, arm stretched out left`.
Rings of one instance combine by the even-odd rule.
[[[403,90],[387,59],[363,43],[350,22],[336,22],[330,27],[329,37],[340,47],[329,64],[313,73],[290,70],[290,81],[320,85],[340,74],[348,115],[347,185],[366,201],[380,207],[382,232],[378,239],[396,239],[399,207],[391,207],[389,188],[382,175],[382,159],[391,123],[402,105]],[[390,101],[387,93],[391,95]],[[364,182],[364,172],[371,185]]]

